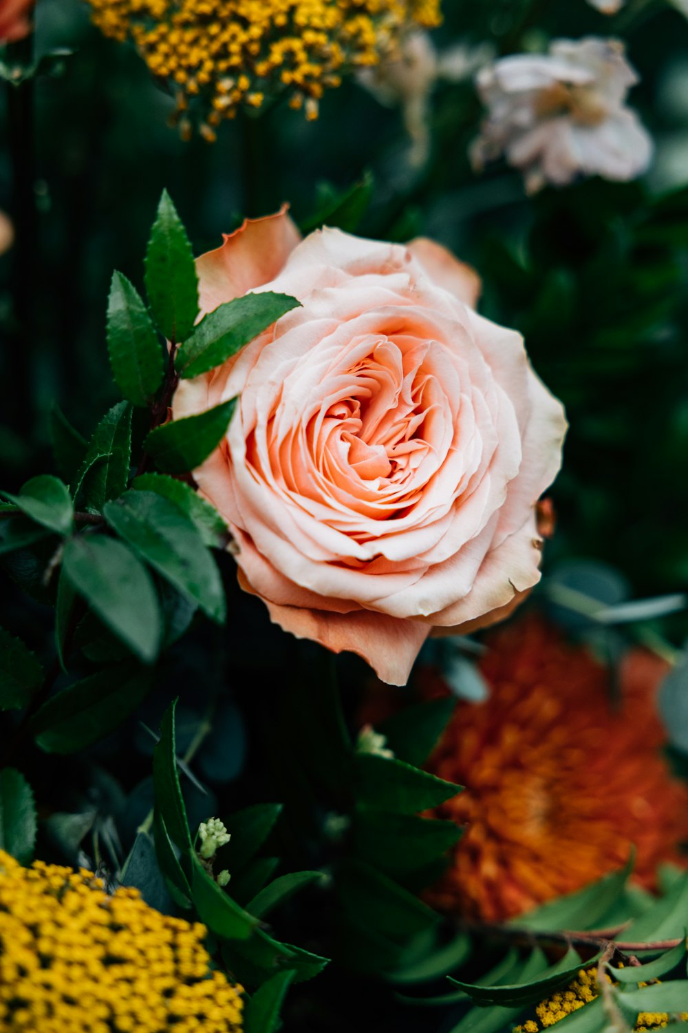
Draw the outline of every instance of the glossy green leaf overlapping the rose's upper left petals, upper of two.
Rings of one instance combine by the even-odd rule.
[[[231,355],[300,306],[289,294],[265,291],[244,294],[221,305],[201,319],[179,348],[176,369],[185,380],[222,366]]]

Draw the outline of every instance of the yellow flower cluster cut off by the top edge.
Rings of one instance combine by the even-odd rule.
[[[287,91],[316,118],[345,72],[393,53],[413,26],[439,24],[439,0],[87,0],[106,36],[131,39],[176,92],[183,135],[190,98],[206,100],[201,131]]]

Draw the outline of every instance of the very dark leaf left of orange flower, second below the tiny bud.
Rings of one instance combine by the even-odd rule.
[[[400,876],[443,856],[461,838],[453,821],[412,814],[361,811],[354,817],[357,855],[389,875]]]

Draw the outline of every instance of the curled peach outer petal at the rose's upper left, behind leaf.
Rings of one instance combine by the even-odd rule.
[[[244,219],[225,243],[196,259],[201,313],[273,280],[301,234],[283,205],[274,215]]]

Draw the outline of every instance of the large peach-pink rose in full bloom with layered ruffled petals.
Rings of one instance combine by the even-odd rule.
[[[514,608],[539,580],[535,503],[566,424],[522,338],[474,311],[476,274],[428,240],[300,241],[284,210],[197,269],[204,312],[249,290],[302,305],[174,399],[181,417],[239,396],[195,477],[241,587],[397,685],[433,629]]]

